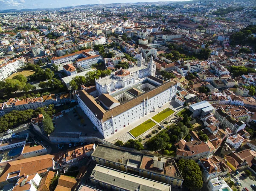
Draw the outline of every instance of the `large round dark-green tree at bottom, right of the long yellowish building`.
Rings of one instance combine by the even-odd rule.
[[[196,191],[203,187],[202,172],[195,160],[181,159],[178,168],[184,179],[183,184],[189,190]]]

